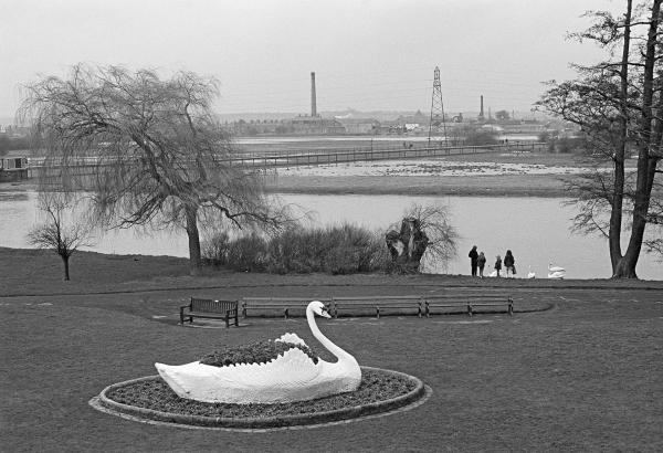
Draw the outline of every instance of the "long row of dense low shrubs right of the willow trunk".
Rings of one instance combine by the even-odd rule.
[[[387,271],[391,262],[381,233],[350,224],[288,229],[266,239],[221,232],[206,241],[202,254],[208,263],[234,271],[277,274]]]

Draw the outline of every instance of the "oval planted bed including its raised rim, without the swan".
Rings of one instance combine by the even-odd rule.
[[[398,371],[361,367],[354,392],[276,404],[207,403],[179,398],[158,376],[116,383],[98,402],[110,412],[194,426],[264,429],[319,424],[390,412],[425,397],[421,380]]]

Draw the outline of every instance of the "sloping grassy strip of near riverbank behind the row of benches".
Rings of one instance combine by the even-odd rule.
[[[130,294],[172,291],[278,291],[297,287],[302,296],[329,296],[334,293],[359,292],[360,295],[403,292],[419,294],[418,287],[507,288],[509,291],[561,289],[648,289],[663,291],[662,281],[548,280],[548,278],[473,278],[467,275],[420,274],[299,274],[276,275],[234,273],[214,267],[203,275],[189,275],[185,257],[150,255],[112,255],[78,251],[71,259],[71,281],[62,280],[60,257],[51,251],[0,247],[0,297],[40,295]],[[327,287],[320,293],[320,287]],[[354,288],[354,289],[350,289]],[[328,292],[332,292],[329,294]],[[352,294],[350,292],[350,294]],[[244,294],[245,295],[245,294]],[[241,296],[240,296],[241,297]]]

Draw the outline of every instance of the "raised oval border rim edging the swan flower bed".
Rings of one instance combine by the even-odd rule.
[[[415,388],[408,393],[400,394],[383,401],[367,404],[352,405],[325,412],[316,412],[305,415],[277,415],[270,418],[228,418],[182,414],[173,412],[161,412],[154,409],[139,408],[116,402],[107,397],[108,392],[136,382],[161,379],[158,375],[147,376],[118,382],[106,387],[102,392],[90,400],[90,404],[102,412],[110,413],[130,420],[148,423],[180,425],[185,428],[207,429],[233,429],[233,430],[265,430],[284,429],[296,426],[313,428],[323,424],[348,422],[356,419],[370,418],[371,415],[386,415],[398,411],[413,409],[422,403],[432,393],[419,378],[400,371],[386,370],[382,368],[361,367],[365,370],[375,370],[390,373],[413,381]],[[128,415],[128,417],[127,417]]]

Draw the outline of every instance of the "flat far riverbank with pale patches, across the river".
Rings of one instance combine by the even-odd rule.
[[[567,182],[592,171],[585,156],[507,152],[436,159],[278,169],[267,188],[280,193],[463,197],[567,197]]]

